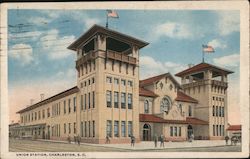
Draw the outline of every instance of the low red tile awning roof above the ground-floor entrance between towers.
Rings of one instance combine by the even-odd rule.
[[[165,120],[153,114],[140,114],[139,120],[140,122],[152,122],[152,123],[208,125],[208,122],[193,117],[187,117],[186,120]]]

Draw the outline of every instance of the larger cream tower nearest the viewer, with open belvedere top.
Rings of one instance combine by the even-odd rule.
[[[139,49],[146,45],[94,25],[68,47],[77,53],[77,132],[84,142],[139,139]]]

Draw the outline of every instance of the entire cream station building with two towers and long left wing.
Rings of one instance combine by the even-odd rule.
[[[148,43],[92,26],[68,49],[76,53],[77,85],[18,111],[10,136],[81,142],[128,143],[224,139],[227,75],[230,70],[200,63],[175,76],[139,80],[139,51]]]

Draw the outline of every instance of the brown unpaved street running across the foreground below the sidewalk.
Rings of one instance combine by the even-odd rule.
[[[174,144],[174,143],[171,143]],[[139,144],[137,144],[139,145]],[[136,145],[136,146],[137,146]],[[129,145],[128,145],[129,146]],[[110,145],[97,145],[97,144],[68,144],[64,142],[48,142],[48,141],[35,141],[35,140],[17,140],[10,139],[9,151],[10,152],[142,152],[142,151],[156,151],[156,152],[240,152],[241,145],[237,146],[209,146],[209,147],[180,147],[180,148],[150,148],[150,149],[137,149],[135,148],[121,148],[119,146],[111,147]]]

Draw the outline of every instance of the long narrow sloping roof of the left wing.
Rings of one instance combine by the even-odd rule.
[[[66,91],[63,91],[63,92],[61,92],[61,93],[58,93],[58,94],[56,94],[56,95],[54,95],[54,96],[52,96],[52,97],[49,97],[49,98],[47,98],[47,99],[45,99],[45,100],[43,100],[43,101],[40,101],[40,102],[38,102],[38,103],[36,103],[36,104],[33,104],[33,105],[31,105],[31,106],[29,106],[29,107],[27,107],[27,108],[24,108],[24,109],[18,111],[17,113],[23,113],[23,112],[26,112],[26,111],[35,109],[35,108],[37,108],[37,107],[39,107],[39,106],[41,106],[41,105],[44,105],[44,104],[53,102],[53,101],[55,101],[55,100],[58,100],[58,99],[63,98],[63,97],[65,97],[65,96],[71,95],[71,94],[76,93],[76,92],[78,92],[78,91],[79,91],[79,88],[78,88],[77,86],[75,86],[75,87],[70,88],[70,89],[68,89],[68,90],[66,90]]]

